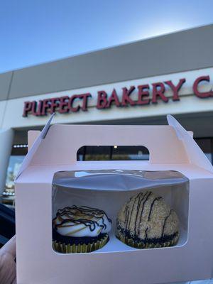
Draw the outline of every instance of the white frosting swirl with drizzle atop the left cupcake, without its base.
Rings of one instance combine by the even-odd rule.
[[[100,209],[81,206],[65,207],[59,209],[53,226],[62,236],[99,236],[109,233],[111,230],[111,219]]]

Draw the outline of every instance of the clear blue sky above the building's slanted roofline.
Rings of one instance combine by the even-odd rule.
[[[0,73],[207,25],[212,11],[213,0],[0,0]]]

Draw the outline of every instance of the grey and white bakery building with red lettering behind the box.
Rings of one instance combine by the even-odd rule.
[[[166,124],[173,114],[212,161],[212,35],[202,26],[1,74],[0,192],[13,189],[27,131],[53,112],[57,124]]]

